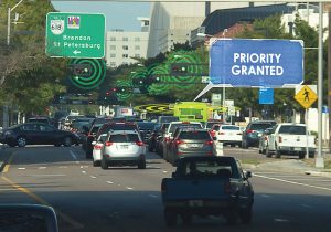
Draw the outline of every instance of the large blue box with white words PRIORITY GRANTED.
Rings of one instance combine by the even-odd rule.
[[[303,42],[218,39],[210,50],[212,84],[284,87],[303,82]]]

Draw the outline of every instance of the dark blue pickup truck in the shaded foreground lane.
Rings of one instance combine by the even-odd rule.
[[[172,178],[162,179],[161,191],[167,225],[179,214],[184,224],[192,215],[223,215],[227,223],[250,223],[254,191],[249,171],[233,157],[185,157]]]

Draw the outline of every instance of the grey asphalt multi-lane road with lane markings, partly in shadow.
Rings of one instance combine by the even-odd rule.
[[[225,155],[256,157],[257,150],[225,149]],[[0,173],[0,203],[52,205],[60,231],[254,231],[328,232],[331,178],[253,170],[253,223],[231,226],[222,218],[194,219],[193,224],[167,228],[160,182],[174,168],[148,154],[146,170],[118,167],[102,170],[86,160],[81,147],[4,148],[9,165]]]

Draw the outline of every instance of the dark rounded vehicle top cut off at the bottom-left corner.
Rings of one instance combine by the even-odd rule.
[[[3,231],[58,232],[53,208],[41,204],[0,204],[1,229]],[[1,231],[2,231],[1,230]]]

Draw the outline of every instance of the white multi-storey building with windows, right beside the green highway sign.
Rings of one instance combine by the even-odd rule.
[[[108,31],[106,35],[107,66],[117,67],[121,64],[137,63],[132,57],[147,57],[149,19],[138,18],[141,21],[140,32],[122,30]]]

